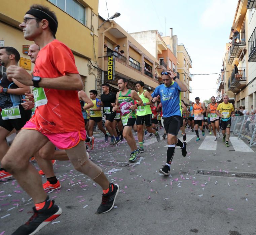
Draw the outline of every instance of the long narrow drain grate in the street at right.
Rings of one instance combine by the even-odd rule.
[[[243,172],[220,172],[220,171],[208,171],[208,170],[197,170],[197,175],[204,176],[222,176],[222,177],[239,177],[239,178],[256,178],[256,174],[243,173]]]

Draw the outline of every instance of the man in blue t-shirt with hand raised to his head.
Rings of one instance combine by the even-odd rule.
[[[170,166],[175,152],[175,146],[181,147],[181,153],[185,157],[187,155],[186,142],[177,139],[177,134],[183,124],[181,94],[186,92],[187,87],[183,84],[175,74],[170,70],[163,70],[161,73],[163,84],[156,87],[151,94],[153,97],[151,102],[155,103],[160,99],[162,103],[163,125],[167,132],[167,161],[159,172],[164,175],[170,175]]]

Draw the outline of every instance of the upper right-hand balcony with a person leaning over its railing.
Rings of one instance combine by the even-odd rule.
[[[228,50],[228,64],[232,64],[234,58],[238,58],[244,49],[246,49],[246,32],[240,32],[240,40],[233,36],[231,47]]]

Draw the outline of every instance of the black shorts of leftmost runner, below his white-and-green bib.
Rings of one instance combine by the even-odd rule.
[[[0,113],[0,126],[7,131],[12,131],[14,128],[16,131],[20,131],[26,122],[30,120],[31,110],[25,110],[22,105],[19,105],[21,118],[3,120]]]

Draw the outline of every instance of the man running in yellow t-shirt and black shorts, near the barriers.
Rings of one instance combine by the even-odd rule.
[[[230,126],[231,126],[231,114],[234,115],[234,106],[228,102],[229,98],[227,95],[223,96],[223,102],[220,103],[215,113],[220,117],[220,123],[222,128],[222,141],[226,140],[226,147],[229,147],[228,140],[230,137]]]

